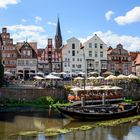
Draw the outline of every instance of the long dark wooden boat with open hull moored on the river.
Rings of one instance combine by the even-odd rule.
[[[111,120],[124,118],[137,114],[137,105],[120,103],[116,105],[93,105],[93,106],[68,106],[57,107],[58,111],[65,116],[79,120]]]

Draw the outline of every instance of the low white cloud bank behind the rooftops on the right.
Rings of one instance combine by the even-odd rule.
[[[92,33],[92,35],[87,38],[79,38],[81,42],[85,42],[93,37],[94,34],[97,34],[101,40],[103,40],[107,46],[116,47],[117,44],[121,43],[125,49],[128,51],[140,51],[140,38],[133,37],[128,35],[118,35],[113,33],[112,31],[102,32],[97,31]]]

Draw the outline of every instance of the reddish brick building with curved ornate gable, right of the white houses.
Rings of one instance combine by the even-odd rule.
[[[109,47],[107,51],[108,70],[112,73],[129,75],[132,73],[132,60],[122,44],[116,48]]]

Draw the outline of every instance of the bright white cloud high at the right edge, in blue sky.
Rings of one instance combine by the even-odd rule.
[[[140,22],[140,7],[134,7],[132,10],[128,11],[125,16],[116,17],[115,21],[119,25]]]

